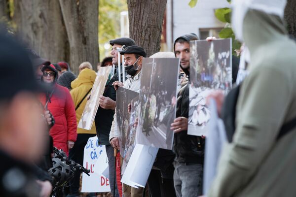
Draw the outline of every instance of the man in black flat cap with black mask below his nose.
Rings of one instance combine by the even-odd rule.
[[[137,45],[128,46],[120,52],[121,55],[124,55],[125,59],[125,70],[126,73],[130,76],[124,83],[115,81],[113,83],[114,88],[117,89],[118,86],[130,89],[135,92],[140,91],[140,82],[141,82],[141,69],[143,58],[146,57],[145,50]],[[112,127],[110,131],[110,143],[111,145],[119,149],[118,141],[118,131],[116,124],[116,113],[114,115],[114,120],[112,122]],[[125,197],[142,197],[143,188],[132,188],[128,185],[123,184],[123,194]]]

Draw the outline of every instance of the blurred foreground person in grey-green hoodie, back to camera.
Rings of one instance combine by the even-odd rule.
[[[232,25],[250,51],[209,197],[296,196],[296,44],[283,22],[286,0],[234,0]]]

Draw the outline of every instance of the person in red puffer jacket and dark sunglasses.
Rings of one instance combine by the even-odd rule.
[[[49,134],[53,138],[53,145],[58,149],[63,149],[68,155],[77,137],[73,99],[67,88],[56,84],[58,71],[55,66],[43,66],[42,73],[41,80],[53,86],[53,91],[43,94],[40,98],[46,110],[50,110],[55,118],[55,125],[50,129]]]

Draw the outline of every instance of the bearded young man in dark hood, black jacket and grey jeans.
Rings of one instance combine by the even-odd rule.
[[[189,108],[189,41],[197,40],[194,33],[178,37],[174,43],[174,52],[180,58],[180,66],[186,74],[178,94],[176,119],[171,125],[175,132],[173,151],[176,154],[174,166],[174,185],[177,197],[198,197],[202,194],[204,161],[204,139],[187,135]]]

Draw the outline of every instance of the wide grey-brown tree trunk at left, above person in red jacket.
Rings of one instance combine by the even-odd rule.
[[[69,61],[69,46],[59,0],[14,0],[17,33],[42,58]]]

